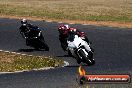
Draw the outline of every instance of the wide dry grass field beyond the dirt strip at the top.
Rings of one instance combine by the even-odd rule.
[[[0,0],[0,15],[132,22],[132,0]]]

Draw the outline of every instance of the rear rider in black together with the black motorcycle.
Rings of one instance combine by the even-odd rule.
[[[49,47],[46,44],[42,31],[38,26],[34,26],[27,22],[26,19],[22,19],[21,27],[19,28],[20,34],[26,39],[26,45],[34,47],[36,50],[45,49],[49,51]]]

